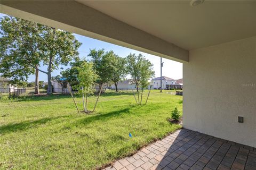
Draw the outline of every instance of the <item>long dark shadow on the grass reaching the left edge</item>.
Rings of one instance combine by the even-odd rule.
[[[0,134],[6,134],[6,133],[15,132],[15,131],[23,131],[29,128],[35,128],[35,126],[37,125],[45,124],[49,121],[53,121],[63,117],[69,117],[69,116],[49,117],[49,118],[42,118],[36,121],[24,121],[21,123],[3,125],[3,126],[0,126]]]

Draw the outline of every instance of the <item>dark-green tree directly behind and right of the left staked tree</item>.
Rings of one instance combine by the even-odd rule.
[[[111,55],[113,52],[106,52],[104,49],[91,49],[88,57],[91,57],[91,62],[93,62],[93,68],[99,75],[96,83],[99,84],[99,88],[103,86],[104,83],[110,81],[111,78]]]

